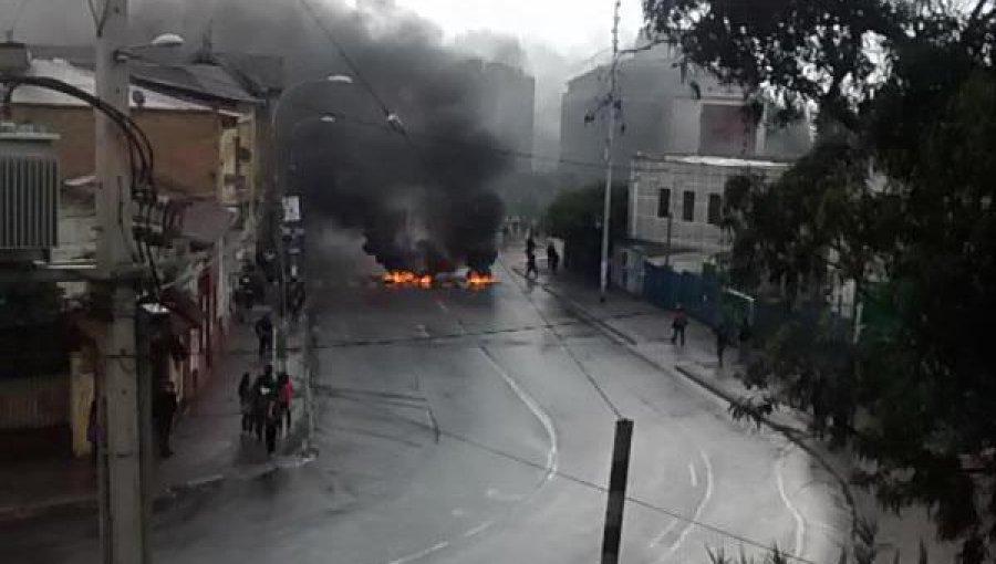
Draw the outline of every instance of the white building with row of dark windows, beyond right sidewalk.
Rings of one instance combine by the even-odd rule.
[[[719,228],[726,181],[744,174],[775,179],[789,166],[743,158],[637,155],[630,175],[627,234],[664,246],[671,253],[713,255],[729,244]]]

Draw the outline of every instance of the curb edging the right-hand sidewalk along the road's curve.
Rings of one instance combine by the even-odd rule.
[[[518,272],[516,269],[510,268],[509,270],[511,270],[519,276],[525,278],[523,274]],[[583,312],[583,314],[581,315],[583,321],[591,323],[591,326],[601,331],[611,341],[614,341],[620,346],[625,347],[626,351],[639,356],[644,362],[650,363],[651,365],[657,367],[658,369],[661,369],[663,372],[676,372],[676,373],[681,374],[682,376],[684,376],[689,382],[692,382],[693,384],[698,385],[702,389],[708,391],[709,394],[713,394],[714,396],[718,397],[719,399],[727,401],[728,404],[735,404],[738,401],[738,398],[734,397],[734,395],[729,394],[725,389],[722,389],[720,387],[716,386],[715,384],[706,380],[705,378],[701,377],[699,375],[694,374],[687,367],[682,366],[679,364],[675,364],[674,366],[668,367],[668,366],[660,363],[657,359],[643,353],[635,346],[637,341],[632,335],[627,335],[624,331],[619,330],[616,327],[610,328],[608,323],[602,322],[596,316],[594,316],[592,313],[585,311],[583,309],[583,306],[578,304],[574,300],[566,297],[558,292],[551,291],[547,286],[547,284],[540,284],[540,288],[542,288],[547,293],[549,293],[553,297],[563,302],[571,311]],[[625,337],[620,338],[620,336],[622,336],[622,335],[624,335]],[[833,466],[822,456],[822,453],[820,453],[819,451],[817,451],[816,448],[813,448],[812,446],[807,443],[803,438],[799,437],[800,431],[798,429],[793,429],[789,426],[774,421],[769,417],[767,417],[762,414],[757,414],[755,417],[759,422],[764,424],[767,428],[774,430],[775,432],[778,432],[779,435],[781,435],[786,439],[788,439],[790,442],[792,442],[793,445],[796,445],[797,447],[799,447],[800,449],[806,451],[806,453],[808,453],[816,461],[818,461],[820,463],[820,466],[822,466],[823,469],[827,470],[827,472],[837,480],[838,485],[840,487],[841,493],[844,497],[844,501],[848,504],[849,512],[851,514],[851,539],[852,540],[857,539],[858,525],[860,522],[860,518],[858,515],[858,504],[854,500],[854,492],[851,489],[851,483],[847,479],[847,477],[841,476],[841,473],[836,468],[833,468]]]

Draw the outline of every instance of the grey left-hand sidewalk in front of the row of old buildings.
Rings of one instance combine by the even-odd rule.
[[[288,374],[294,384],[291,432],[281,438],[278,455],[293,453],[303,442],[305,364],[301,344],[303,330],[288,341]],[[268,469],[272,461],[255,437],[241,435],[238,384],[248,372],[261,370],[257,342],[249,324],[232,322],[226,352],[211,379],[177,414],[170,446],[175,455],[160,459],[154,469],[157,501],[185,491],[245,477]],[[96,477],[90,458],[28,461],[0,467],[0,523],[49,512],[94,510]]]

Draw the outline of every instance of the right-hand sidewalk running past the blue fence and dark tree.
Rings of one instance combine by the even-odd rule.
[[[515,251],[507,264],[523,274]],[[521,261],[518,261],[521,262]],[[692,320],[686,331],[686,345],[671,344],[671,312],[664,311],[636,296],[611,290],[605,303],[599,299],[598,288],[579,281],[570,273],[550,276],[543,273],[537,281],[539,289],[560,300],[582,318],[601,327],[610,338],[630,348],[634,354],[664,369],[673,369],[723,400],[756,397],[736,377],[737,349],[732,346],[724,356],[724,367],[716,358],[715,336],[709,327]],[[808,431],[806,414],[780,408],[768,418],[769,427],[781,432],[815,459],[841,483],[844,497],[852,506],[852,518],[878,523],[880,546],[879,562],[892,562],[896,552],[903,562],[917,556],[921,540],[930,562],[954,562],[957,546],[936,540],[936,533],[922,508],[910,508],[900,514],[881,509],[872,494],[851,488],[848,480],[855,468],[855,458],[847,451],[831,451],[827,445]]]

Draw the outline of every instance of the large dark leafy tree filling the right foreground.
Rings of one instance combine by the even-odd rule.
[[[974,563],[996,555],[996,3],[957,7],[645,0],[689,63],[785,115],[818,108],[811,155],[727,187],[736,279],[795,312],[851,279],[884,313],[858,340],[787,316],[748,377],[873,462],[857,480],[883,504],[928,506]]]

